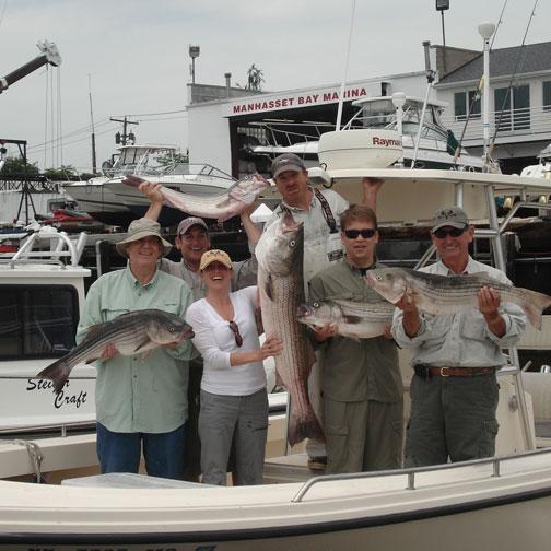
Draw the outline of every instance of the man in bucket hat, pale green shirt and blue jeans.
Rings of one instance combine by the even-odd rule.
[[[157,269],[172,245],[156,222],[134,220],[117,250],[128,265],[102,276],[86,295],[77,341],[121,314],[159,308],[184,318],[191,291],[184,281]],[[118,354],[115,347],[96,362],[97,456],[102,472],[138,472],[143,445],[148,474],[183,478],[187,361],[195,353],[185,341],[141,357]]]

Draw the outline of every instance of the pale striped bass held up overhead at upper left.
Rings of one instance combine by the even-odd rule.
[[[124,184],[136,188],[143,181],[148,180],[131,174],[122,180]],[[164,204],[167,207],[173,207],[194,216],[216,219],[219,222],[224,222],[250,207],[268,187],[270,184],[266,178],[260,174],[254,174],[250,178],[237,181],[223,194],[181,194],[162,185],[159,186],[159,191],[161,191]]]

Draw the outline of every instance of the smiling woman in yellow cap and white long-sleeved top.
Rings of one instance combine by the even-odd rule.
[[[281,351],[281,341],[268,337],[260,345],[257,288],[230,292],[232,261],[226,253],[208,250],[199,269],[206,297],[188,308],[186,318],[204,361],[199,413],[202,482],[225,485],[234,438],[234,484],[260,484],[268,431],[262,361]]]

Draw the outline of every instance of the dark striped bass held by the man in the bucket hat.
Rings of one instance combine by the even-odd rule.
[[[93,326],[80,344],[45,367],[36,378],[52,380],[55,391],[60,392],[75,365],[98,360],[109,344],[121,355],[134,355],[192,337],[191,327],[175,314],[159,309],[129,312]]]

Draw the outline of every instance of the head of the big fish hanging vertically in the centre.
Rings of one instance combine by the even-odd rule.
[[[304,226],[289,211],[262,234],[255,249],[260,266],[271,276],[303,269]]]

